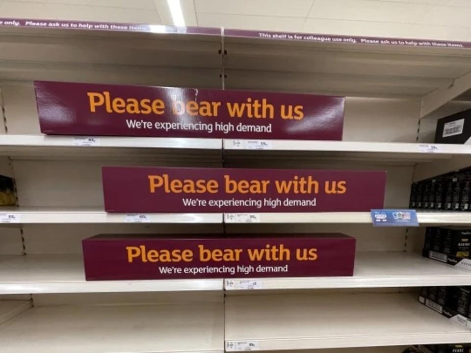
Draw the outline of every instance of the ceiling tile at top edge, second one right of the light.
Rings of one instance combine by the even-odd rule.
[[[316,0],[310,18],[414,23],[433,5],[370,0]]]

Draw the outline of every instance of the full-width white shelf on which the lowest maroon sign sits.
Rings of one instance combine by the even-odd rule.
[[[250,278],[226,279],[225,290]],[[326,289],[471,285],[469,271],[405,252],[358,252],[353,277],[258,278],[255,289]],[[230,283],[228,283],[230,282]],[[221,291],[223,279],[86,281],[79,254],[3,255],[0,294]]]

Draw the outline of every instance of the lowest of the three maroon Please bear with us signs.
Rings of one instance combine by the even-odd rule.
[[[355,239],[343,234],[84,239],[87,280],[352,276]]]

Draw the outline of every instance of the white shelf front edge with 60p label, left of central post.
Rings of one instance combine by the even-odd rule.
[[[222,223],[222,213],[138,213],[145,222],[136,222],[131,214],[107,213],[103,208],[15,208],[2,207],[1,214],[13,215],[12,224],[67,224],[67,223]],[[136,214],[134,214],[136,215]]]

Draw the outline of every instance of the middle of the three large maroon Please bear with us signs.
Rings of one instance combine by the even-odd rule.
[[[386,172],[103,167],[107,212],[317,212],[383,208]]]

